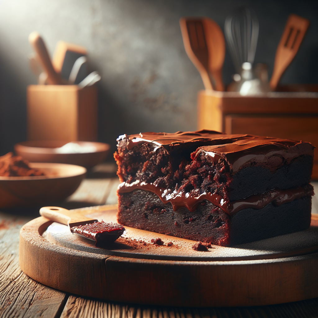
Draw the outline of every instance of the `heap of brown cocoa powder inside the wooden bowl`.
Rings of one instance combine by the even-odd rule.
[[[21,156],[14,156],[13,152],[8,152],[0,157],[0,176],[45,176],[45,173],[38,169],[29,167],[29,162]]]

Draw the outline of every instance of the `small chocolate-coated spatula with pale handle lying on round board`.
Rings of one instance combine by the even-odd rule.
[[[99,222],[97,219],[86,218],[77,211],[70,211],[58,206],[45,206],[40,215],[51,221],[68,225],[72,233],[79,234],[101,246],[113,243],[125,231],[118,223]]]

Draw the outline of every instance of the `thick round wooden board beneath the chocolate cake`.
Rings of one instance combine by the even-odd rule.
[[[117,206],[78,209],[116,221]],[[164,245],[151,239],[161,238]],[[168,243],[171,246],[168,245]],[[39,217],[20,232],[20,266],[47,286],[110,301],[164,306],[259,306],[318,297],[318,218],[311,227],[231,247],[126,227],[111,246]]]

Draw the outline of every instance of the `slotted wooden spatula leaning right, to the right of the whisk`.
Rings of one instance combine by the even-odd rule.
[[[276,89],[283,73],[297,54],[309,24],[309,20],[303,17],[299,17],[295,14],[289,15],[276,50],[273,75],[269,82],[273,91]]]

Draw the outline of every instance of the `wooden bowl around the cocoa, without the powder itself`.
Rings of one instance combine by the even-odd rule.
[[[65,199],[79,187],[84,167],[63,163],[30,163],[46,176],[0,176],[0,208],[30,207]]]

